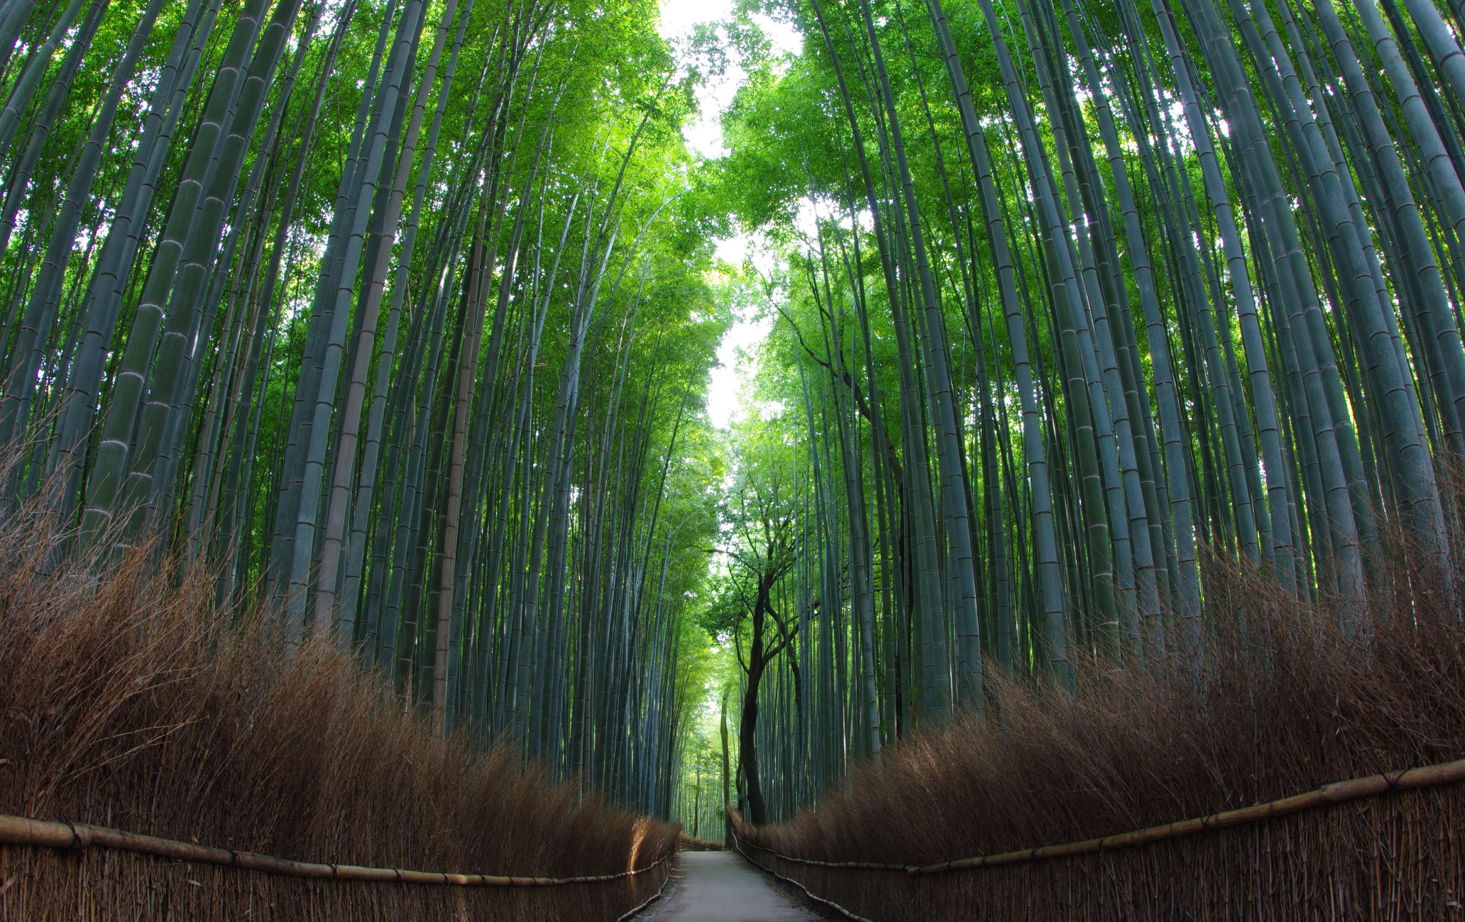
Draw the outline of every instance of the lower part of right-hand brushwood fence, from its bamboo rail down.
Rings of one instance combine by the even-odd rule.
[[[1461,787],[1450,787],[1461,782],[1465,760],[1336,782],[1099,839],[927,865],[787,855],[759,842],[760,830],[747,827],[731,806],[728,818],[744,858],[863,922],[992,913],[1465,919],[1465,798]],[[1384,795],[1395,796],[1384,801]],[[1349,803],[1355,809],[1330,809]],[[1225,830],[1232,833],[1214,834]],[[1141,847],[1160,843],[1172,846]],[[749,849],[769,856],[774,866]]]

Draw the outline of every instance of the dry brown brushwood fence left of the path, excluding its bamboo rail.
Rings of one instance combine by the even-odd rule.
[[[609,874],[675,847],[507,748],[434,739],[349,657],[286,657],[209,572],[148,549],[51,563],[62,539],[35,508],[0,524],[0,812],[426,871]],[[3,847],[0,919],[614,919],[667,868],[464,890]]]

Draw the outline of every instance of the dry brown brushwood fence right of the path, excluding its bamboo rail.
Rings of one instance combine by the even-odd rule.
[[[1456,546],[1462,541],[1456,537]],[[1396,543],[1402,546],[1402,543]],[[1399,552],[1365,640],[1213,562],[1200,676],[1088,661],[1081,694],[989,672],[993,704],[886,752],[791,822],[819,861],[935,863],[1159,825],[1465,755],[1465,623]],[[1459,919],[1465,790],[1395,793],[1135,849],[910,878],[774,862],[872,919]],[[768,853],[756,853],[771,861]]]

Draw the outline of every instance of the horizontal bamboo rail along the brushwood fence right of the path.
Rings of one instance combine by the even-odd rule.
[[[1099,839],[1084,839],[1083,842],[1039,846],[1036,849],[1018,849],[1014,852],[999,852],[996,855],[958,858],[955,861],[943,861],[933,865],[892,865],[866,861],[815,861],[812,858],[794,858],[791,855],[782,855],[781,852],[760,846],[756,842],[747,842],[741,836],[737,836],[735,825],[734,836],[759,852],[768,852],[779,861],[791,863],[851,871],[902,871],[911,877],[923,877],[927,874],[943,874],[946,871],[973,871],[979,868],[996,868],[1001,865],[1021,865],[1047,858],[1072,858],[1075,855],[1094,855],[1097,852],[1130,849],[1154,842],[1165,842],[1168,839],[1181,839],[1184,836],[1195,836],[1212,830],[1245,825],[1248,822],[1260,822],[1263,820],[1275,820],[1277,817],[1286,817],[1289,814],[1316,809],[1320,806],[1332,806],[1335,803],[1345,803],[1348,801],[1376,798],[1396,790],[1418,790],[1423,787],[1439,787],[1440,784],[1453,784],[1458,782],[1465,782],[1465,758],[1455,760],[1453,762],[1442,762],[1439,765],[1386,771],[1384,774],[1370,774],[1361,779],[1351,779],[1348,782],[1335,782],[1307,793],[1282,798],[1280,801],[1269,801],[1266,803],[1228,809],[1195,820],[1181,820],[1176,822],[1166,822],[1165,825],[1151,825],[1132,833],[1116,833],[1113,836],[1100,836]]]

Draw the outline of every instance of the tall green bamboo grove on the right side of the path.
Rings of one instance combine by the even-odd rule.
[[[782,259],[711,623],[749,820],[992,670],[1200,670],[1212,566],[1360,642],[1387,541],[1450,584],[1465,7],[763,9],[804,54],[724,117]]]

